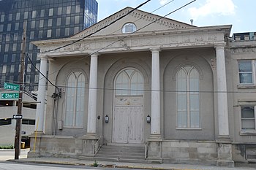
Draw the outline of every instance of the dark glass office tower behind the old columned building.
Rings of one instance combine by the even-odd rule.
[[[58,39],[97,23],[96,0],[0,0],[0,88],[18,83],[23,22],[26,20],[26,53],[39,69],[32,41]],[[25,90],[37,90],[39,72],[26,58]]]

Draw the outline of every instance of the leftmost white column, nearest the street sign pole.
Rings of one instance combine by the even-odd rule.
[[[48,59],[46,56],[41,57],[40,60],[40,72],[46,76],[47,74],[47,62]],[[38,94],[37,94],[37,112],[36,112],[36,125],[35,131],[42,132],[44,128],[44,117],[45,117],[45,87],[46,87],[46,79],[39,74],[39,82],[38,82]]]

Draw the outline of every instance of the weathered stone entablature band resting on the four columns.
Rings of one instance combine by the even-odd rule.
[[[131,50],[146,51],[148,49],[159,47],[161,47],[162,50],[167,50],[181,47],[222,47],[225,45],[222,32],[187,32],[187,34],[162,34],[155,36],[144,35],[127,37],[121,41],[117,41],[116,38],[97,40],[87,39],[86,41],[75,43],[45,54],[49,56],[64,56],[90,54],[94,51],[99,51],[99,53],[119,53]],[[65,44],[48,44],[47,46],[41,46],[40,49],[41,51],[48,51]]]

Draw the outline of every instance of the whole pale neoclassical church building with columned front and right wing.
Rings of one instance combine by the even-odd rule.
[[[127,7],[72,37],[34,42],[50,82],[40,75],[29,157],[256,161],[256,41],[230,30]]]

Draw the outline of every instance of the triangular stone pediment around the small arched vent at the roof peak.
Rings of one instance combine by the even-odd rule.
[[[93,34],[93,36],[122,34],[122,28],[126,23],[134,23],[138,30],[137,32],[195,28],[195,26],[189,25],[187,23],[181,23],[177,20],[171,20],[170,18],[162,18],[159,15],[143,12],[138,9],[135,9],[134,11],[132,10],[133,8],[131,7],[126,7],[124,9],[121,9],[119,12],[116,12],[115,14],[110,15],[108,18],[105,18],[104,20],[99,21],[93,26],[86,28],[83,31],[80,31],[78,34],[75,34],[73,37],[84,37],[84,36],[93,34],[94,32],[97,32],[97,33]],[[130,11],[132,12],[129,13],[129,15],[127,15],[127,13]],[[127,15],[127,16],[125,16],[121,20],[118,20],[118,18],[121,18],[124,15]],[[118,21],[113,23],[113,21],[115,20],[118,20]],[[113,23],[113,24],[110,24],[110,23]]]

